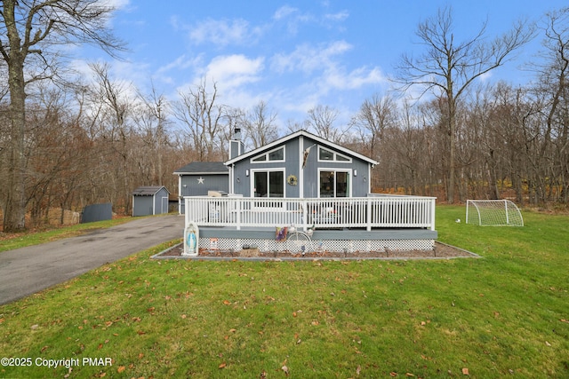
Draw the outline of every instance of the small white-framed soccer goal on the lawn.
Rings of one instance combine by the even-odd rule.
[[[467,200],[466,223],[482,226],[524,226],[524,219],[512,201]]]

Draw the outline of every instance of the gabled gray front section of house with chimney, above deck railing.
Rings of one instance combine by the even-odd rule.
[[[229,193],[307,199],[363,197],[371,192],[371,170],[377,162],[308,131],[246,153],[241,146],[239,140],[231,141],[232,158],[225,162]]]

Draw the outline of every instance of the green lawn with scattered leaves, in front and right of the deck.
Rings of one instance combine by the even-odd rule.
[[[523,215],[437,207],[439,240],[480,259],[149,259],[164,244],[0,306],[0,357],[31,359],[0,377],[566,378],[569,217]]]

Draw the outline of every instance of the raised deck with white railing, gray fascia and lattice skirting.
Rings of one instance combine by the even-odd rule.
[[[287,249],[276,228],[316,227],[309,249],[327,251],[430,250],[435,245],[435,198],[187,197],[186,226],[199,227],[200,249]]]

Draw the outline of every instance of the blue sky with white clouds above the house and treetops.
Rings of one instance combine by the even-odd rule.
[[[365,99],[389,91],[403,53],[421,53],[417,26],[445,5],[453,7],[460,41],[485,20],[491,39],[520,18],[539,20],[565,6],[559,0],[112,1],[119,6],[113,28],[130,51],[123,61],[103,53],[90,59],[108,61],[116,79],[142,91],[153,84],[176,99],[206,78],[217,83],[221,103],[247,110],[263,100],[282,127],[302,122],[317,105],[337,109],[339,125],[348,122]],[[521,68],[539,59],[541,37],[486,80],[530,80]]]

